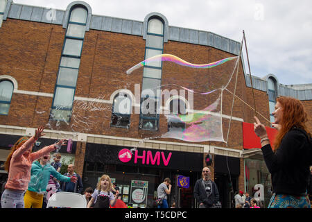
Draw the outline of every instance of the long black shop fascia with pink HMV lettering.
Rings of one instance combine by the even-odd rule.
[[[85,161],[132,167],[202,171],[203,154],[87,143]]]

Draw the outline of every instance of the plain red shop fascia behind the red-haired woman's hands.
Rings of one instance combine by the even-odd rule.
[[[266,126],[266,133],[272,146],[277,129]],[[261,148],[260,138],[254,133],[254,124],[243,122],[243,148]]]

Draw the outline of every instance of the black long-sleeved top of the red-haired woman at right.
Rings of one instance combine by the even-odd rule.
[[[311,140],[300,128],[292,128],[281,139],[274,153],[270,144],[261,148],[266,167],[272,176],[272,189],[276,194],[302,196],[306,194],[310,178]]]

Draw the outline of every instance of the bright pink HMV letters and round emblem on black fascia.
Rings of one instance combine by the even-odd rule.
[[[143,151],[142,153],[139,153],[138,150],[135,151],[135,153],[131,153],[128,148],[123,148],[121,151],[119,151],[118,157],[121,162],[129,162],[132,160],[132,157],[134,156],[135,164],[138,162],[141,162],[141,164],[146,165],[155,165],[159,166],[160,162],[164,164],[164,166],[168,166],[170,159],[171,159],[172,153],[170,152],[167,156],[164,154],[164,152],[157,151],[155,155],[153,156],[152,151]]]

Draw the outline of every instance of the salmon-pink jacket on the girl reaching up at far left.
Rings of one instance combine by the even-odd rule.
[[[31,180],[31,164],[43,155],[55,150],[53,144],[46,146],[35,153],[23,155],[33,147],[34,143],[35,138],[31,137],[13,153],[6,188],[25,191],[28,188],[29,180]]]

